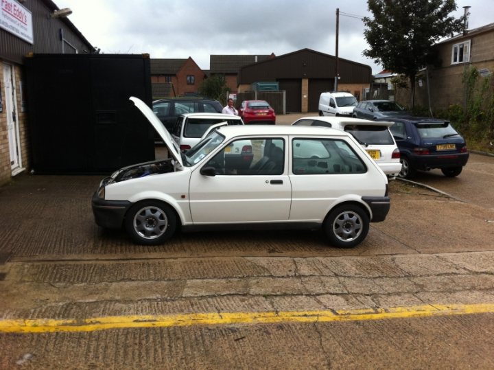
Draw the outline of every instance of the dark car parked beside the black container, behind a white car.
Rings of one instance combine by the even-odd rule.
[[[176,97],[153,102],[153,112],[163,122],[167,130],[172,130],[179,115],[186,113],[222,113],[222,105],[217,100]]]

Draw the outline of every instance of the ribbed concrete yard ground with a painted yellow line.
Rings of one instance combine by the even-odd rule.
[[[368,238],[102,231],[99,176],[0,188],[0,369],[492,369],[494,158],[392,181]],[[458,200],[460,199],[460,200]]]

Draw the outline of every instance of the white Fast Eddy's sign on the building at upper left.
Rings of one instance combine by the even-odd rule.
[[[0,28],[33,44],[32,14],[16,0],[0,0]]]

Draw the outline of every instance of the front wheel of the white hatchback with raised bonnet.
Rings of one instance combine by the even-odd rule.
[[[158,200],[136,203],[127,212],[125,227],[137,244],[162,244],[176,230],[176,215],[169,205]]]

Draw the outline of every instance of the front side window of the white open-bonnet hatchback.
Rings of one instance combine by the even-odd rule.
[[[284,172],[283,139],[239,139],[228,143],[206,166],[218,175],[281,175]]]

